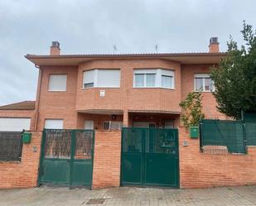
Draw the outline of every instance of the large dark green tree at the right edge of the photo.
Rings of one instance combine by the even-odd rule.
[[[239,119],[241,112],[256,112],[256,31],[244,22],[245,46],[239,49],[230,36],[227,56],[211,69],[220,113]]]

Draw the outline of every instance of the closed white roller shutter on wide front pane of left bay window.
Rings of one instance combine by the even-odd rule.
[[[99,69],[98,87],[120,87],[119,69]]]

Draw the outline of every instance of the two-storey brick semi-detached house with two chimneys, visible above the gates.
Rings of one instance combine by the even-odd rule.
[[[50,55],[26,55],[40,70],[31,130],[178,127],[179,103],[200,88],[205,117],[223,119],[210,79],[223,56],[217,38],[209,53],[128,55],[60,55],[54,41]]]

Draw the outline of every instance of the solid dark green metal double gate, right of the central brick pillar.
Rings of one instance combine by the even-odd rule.
[[[179,187],[177,129],[123,128],[121,184]]]

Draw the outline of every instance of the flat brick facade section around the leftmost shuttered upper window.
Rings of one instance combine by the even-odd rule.
[[[67,74],[65,92],[48,91],[50,74]],[[41,92],[39,93],[39,118],[37,131],[41,131],[46,118],[64,119],[65,129],[75,129],[77,112],[75,111],[76,97],[76,66],[45,66],[42,67]]]

